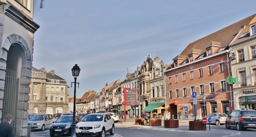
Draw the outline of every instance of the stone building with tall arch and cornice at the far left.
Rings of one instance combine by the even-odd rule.
[[[0,2],[0,119],[11,114],[14,133],[27,136],[34,34],[34,0]],[[12,88],[9,88],[12,87]]]

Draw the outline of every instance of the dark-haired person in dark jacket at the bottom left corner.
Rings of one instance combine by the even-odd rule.
[[[12,123],[12,115],[7,114],[3,117],[4,121],[0,123],[0,137],[14,137]]]

